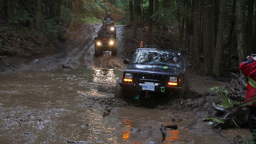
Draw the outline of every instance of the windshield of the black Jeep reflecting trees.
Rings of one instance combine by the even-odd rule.
[[[136,50],[131,64],[157,64],[182,67],[180,53],[164,50]]]

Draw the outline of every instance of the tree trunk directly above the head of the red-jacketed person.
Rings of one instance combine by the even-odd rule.
[[[249,52],[253,51],[253,0],[248,0],[248,17],[247,17],[247,41],[249,46]]]

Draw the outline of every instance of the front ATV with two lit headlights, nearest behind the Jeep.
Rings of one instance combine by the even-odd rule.
[[[94,42],[94,55],[99,56],[102,51],[110,50],[111,54],[116,56],[116,38],[111,35],[103,35],[103,37],[96,37]]]

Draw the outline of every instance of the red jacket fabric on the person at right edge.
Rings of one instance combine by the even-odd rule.
[[[254,57],[255,58],[255,57]],[[254,81],[256,81],[256,61],[255,60],[247,60],[242,62],[239,66],[240,70],[244,74],[245,77],[250,76]],[[247,84],[247,92],[246,92],[246,103],[252,101],[252,98],[256,96],[256,89],[252,87],[249,83]],[[256,108],[256,104],[250,105]]]

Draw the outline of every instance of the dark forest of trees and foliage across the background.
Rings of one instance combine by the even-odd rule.
[[[237,72],[256,51],[254,0],[0,0],[0,7],[3,23],[56,40],[67,27],[101,22],[112,12],[118,24],[134,28],[133,38],[146,27],[148,45],[181,47],[195,70],[216,77]]]

